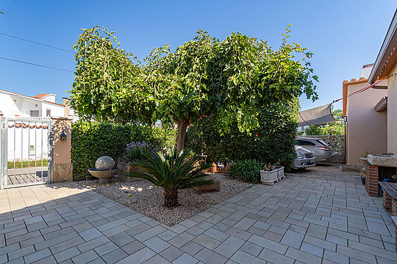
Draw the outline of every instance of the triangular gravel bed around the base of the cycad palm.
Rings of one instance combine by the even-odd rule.
[[[99,180],[94,180],[79,181],[79,184],[151,217],[151,219],[164,223],[164,225],[171,226],[253,186],[251,183],[243,183],[224,174],[211,174],[211,176],[220,180],[219,192],[210,191],[197,194],[193,188],[179,190],[178,202],[180,206],[174,209],[162,206],[164,203],[163,188],[146,180],[126,182],[120,179],[111,179],[110,183],[102,185],[98,184]]]

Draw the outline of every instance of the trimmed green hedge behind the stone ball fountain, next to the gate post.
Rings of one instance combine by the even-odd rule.
[[[117,161],[123,156],[127,143],[132,141],[150,143],[156,148],[173,148],[175,139],[176,131],[173,129],[84,121],[73,123],[73,179],[89,176],[87,170],[95,167],[100,156],[111,156]]]

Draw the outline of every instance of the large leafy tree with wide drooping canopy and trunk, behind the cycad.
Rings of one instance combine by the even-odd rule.
[[[225,130],[237,121],[248,131],[258,126],[257,110],[264,105],[302,93],[317,98],[306,60],[312,54],[287,43],[289,31],[280,49],[272,50],[267,41],[241,33],[220,41],[199,30],[174,52],[165,45],[140,62],[119,48],[114,32],[84,29],[74,47],[72,107],[101,120],[176,123],[178,153],[188,125],[209,116]],[[303,59],[294,60],[297,54]]]

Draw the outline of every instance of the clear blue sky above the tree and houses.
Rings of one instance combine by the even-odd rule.
[[[302,110],[342,97],[342,81],[360,77],[374,63],[396,10],[396,1],[22,1],[1,0],[0,33],[71,50],[81,28],[106,26],[122,48],[143,59],[166,43],[175,50],[203,29],[224,39],[231,32],[269,41],[275,49],[293,24],[291,41],[313,52],[319,77],[315,102],[300,98]],[[0,57],[61,68],[41,68],[0,59],[0,90],[28,96],[69,97],[75,57],[0,34]],[[341,108],[341,103],[336,103]]]

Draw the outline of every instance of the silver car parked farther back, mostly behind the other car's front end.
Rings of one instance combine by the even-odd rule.
[[[322,139],[298,137],[296,138],[296,145],[313,152],[316,161],[331,161],[332,156],[335,154],[332,148]]]

